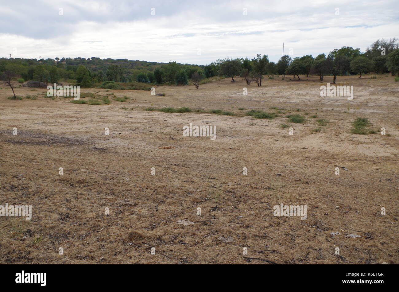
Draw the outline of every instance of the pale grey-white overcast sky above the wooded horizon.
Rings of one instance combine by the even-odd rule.
[[[276,62],[391,37],[399,0],[0,0],[0,57]]]

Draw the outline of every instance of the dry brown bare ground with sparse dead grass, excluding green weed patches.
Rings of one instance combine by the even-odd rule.
[[[32,220],[0,217],[0,263],[398,264],[399,82],[338,77],[354,85],[348,101],[320,97],[332,77],[290,79],[156,87],[165,97],[82,89],[131,98],[98,106],[0,90],[0,205],[32,205]],[[143,110],[151,106],[238,116]],[[271,107],[285,110],[244,116]],[[304,124],[288,122],[297,113]],[[358,116],[391,136],[351,134]],[[312,133],[319,118],[329,123]],[[215,125],[217,138],[184,137],[190,122]],[[280,203],[307,205],[307,218],[273,216]]]

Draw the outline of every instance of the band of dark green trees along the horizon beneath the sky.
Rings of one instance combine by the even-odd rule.
[[[269,61],[268,55],[257,54],[253,59],[218,59],[208,65],[181,64],[175,61],[157,63],[131,61],[127,59],[100,59],[98,57],[55,59],[0,59],[2,80],[16,79],[20,82],[34,80],[44,83],[76,81],[82,87],[91,87],[95,83],[140,82],[148,84],[187,85],[189,81],[197,88],[201,80],[213,76],[243,77],[249,85],[255,82],[262,86],[263,76],[279,74],[318,75],[320,81],[326,75],[337,76],[360,74],[375,71],[396,75],[399,73],[399,42],[397,38],[378,39],[364,53],[359,48],[341,47],[328,55],[322,53],[316,57],[304,55],[291,58],[283,55],[277,63]],[[7,75],[7,76],[6,76]]]

